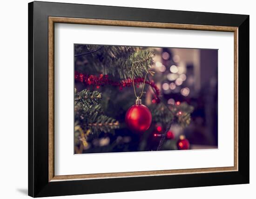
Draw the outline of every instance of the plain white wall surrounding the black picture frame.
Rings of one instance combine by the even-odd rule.
[[[52,0],[48,0],[52,1]],[[254,196],[256,187],[256,125],[253,111],[256,106],[256,13],[252,0],[59,0],[69,3],[85,3],[124,7],[146,7],[173,10],[189,10],[216,13],[250,14],[250,184],[215,187],[196,187],[157,191],[123,192],[87,195],[87,199],[130,198],[189,198],[216,199],[229,197],[240,199]],[[1,198],[27,197],[27,3],[28,0],[4,0],[0,6],[0,195]],[[157,3],[156,3],[157,2]],[[9,62],[11,58],[12,62]],[[15,90],[14,90],[15,88]],[[64,198],[64,197],[59,197]],[[68,198],[68,197],[66,197]],[[71,196],[69,198],[85,198]]]

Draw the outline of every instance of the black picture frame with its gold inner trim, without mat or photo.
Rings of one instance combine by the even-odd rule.
[[[54,24],[234,33],[234,166],[54,175]],[[249,183],[249,15],[34,1],[28,4],[28,195]]]

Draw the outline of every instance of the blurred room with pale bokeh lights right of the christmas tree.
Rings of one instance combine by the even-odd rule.
[[[215,49],[156,48],[154,80],[168,104],[186,101],[194,107],[191,123],[182,129],[172,125],[176,135],[184,134],[191,148],[218,145],[218,51]]]

